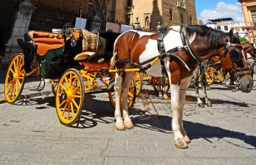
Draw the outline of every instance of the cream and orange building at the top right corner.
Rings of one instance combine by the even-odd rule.
[[[241,3],[249,43],[256,43],[256,0],[238,0]]]

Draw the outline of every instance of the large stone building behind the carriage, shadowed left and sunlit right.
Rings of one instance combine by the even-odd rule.
[[[16,39],[27,29],[51,32],[63,24],[75,27],[77,17],[85,18],[89,29],[95,15],[103,22],[101,30],[106,21],[134,25],[138,20],[144,30],[156,30],[158,22],[197,24],[194,0],[1,0],[0,56],[17,52]]]

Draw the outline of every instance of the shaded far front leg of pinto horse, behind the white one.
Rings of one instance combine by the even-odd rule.
[[[183,108],[184,108],[184,104],[185,104],[185,99],[186,99],[186,89],[188,84],[190,83],[190,79],[191,77],[181,80],[181,90],[180,90],[180,94],[179,94],[179,127],[181,130],[182,135],[184,136],[184,141],[186,143],[190,143],[190,138],[188,138],[186,131],[184,130],[183,127]]]

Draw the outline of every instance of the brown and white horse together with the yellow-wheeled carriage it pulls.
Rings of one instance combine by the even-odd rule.
[[[56,109],[60,122],[65,125],[77,122],[83,108],[84,94],[97,85],[95,80],[100,76],[115,106],[116,129],[133,128],[128,108],[136,96],[135,82],[132,80],[134,71],[146,71],[155,77],[167,74],[171,89],[174,141],[176,147],[187,148],[190,138],[183,127],[184,100],[193,71],[201,65],[202,59],[217,55],[224,68],[232,71],[231,76],[239,82],[239,89],[246,93],[252,91],[252,75],[241,55],[241,44],[232,43],[233,34],[226,35],[209,27],[182,25],[179,28],[162,27],[158,33],[125,32],[118,38],[116,36],[115,44],[113,40],[109,42],[111,46],[107,46],[109,49],[114,47],[110,63],[108,58],[101,60],[97,49],[83,52],[80,29],[73,31],[66,26],[63,35],[33,34],[28,32],[23,40],[18,40],[24,55],[17,55],[8,69],[5,81],[7,102],[13,103],[18,99],[26,73],[30,72],[31,62],[35,60],[38,77],[59,79],[55,90]],[[107,40],[109,34],[105,35]],[[115,104],[110,82],[114,82]]]

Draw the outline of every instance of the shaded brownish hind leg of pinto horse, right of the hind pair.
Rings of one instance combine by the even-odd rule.
[[[125,123],[125,128],[131,129],[134,127],[134,124],[131,122],[131,119],[129,117],[128,113],[128,91],[131,85],[131,80],[134,77],[134,72],[125,72],[125,77],[122,80],[122,103],[121,107],[123,110],[123,118]],[[135,91],[136,93],[136,91]]]

